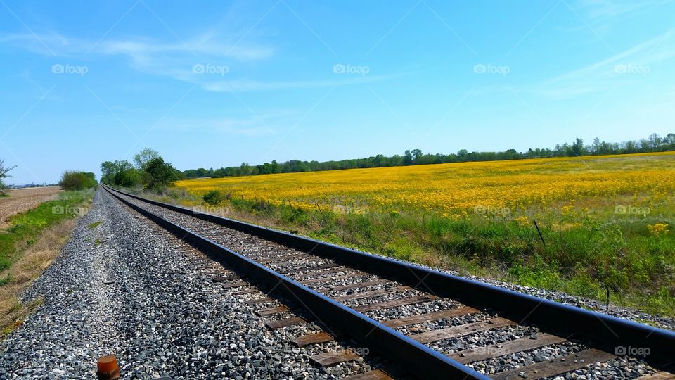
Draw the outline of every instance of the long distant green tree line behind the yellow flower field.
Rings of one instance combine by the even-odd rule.
[[[405,151],[403,156],[371,156],[368,158],[354,158],[351,160],[337,161],[301,161],[289,160],[284,163],[278,163],[273,160],[271,163],[262,165],[249,165],[242,163],[239,166],[213,168],[189,169],[182,172],[186,178],[199,177],[238,177],[245,175],[264,175],[274,173],[291,172],[316,172],[321,170],[342,170],[367,167],[390,167],[406,165],[428,165],[438,163],[465,163],[475,161],[496,161],[496,160],[522,160],[525,158],[547,158],[547,157],[575,157],[575,156],[600,156],[629,153],[649,153],[675,151],[675,134],[669,133],[666,137],[660,137],[658,134],[651,134],[647,139],[638,141],[624,141],[622,143],[611,143],[593,139],[593,143],[584,145],[584,140],[577,138],[572,144],[556,144],[551,148],[530,148],[527,152],[518,152],[515,149],[508,149],[501,152],[469,152],[461,149],[457,153],[450,154],[423,154],[420,149]]]

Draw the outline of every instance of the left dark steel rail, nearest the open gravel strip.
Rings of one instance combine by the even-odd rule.
[[[217,255],[233,267],[245,272],[250,277],[261,281],[269,289],[283,293],[290,300],[294,300],[303,308],[314,314],[320,322],[352,336],[364,345],[377,351],[398,364],[403,364],[407,371],[421,379],[489,379],[465,365],[452,360],[445,355],[424,346],[417,341],[368,318],[359,312],[347,308],[321,293],[309,289],[288,277],[270,270],[259,263],[246,258],[240,253],[231,251],[214,241],[195,232],[185,229],[165,218],[155,215],[115,194],[114,189],[103,186],[108,193],[119,199],[125,205],[133,208],[162,228],[174,234],[179,239],[190,243],[200,251]],[[120,194],[127,195],[120,191]]]

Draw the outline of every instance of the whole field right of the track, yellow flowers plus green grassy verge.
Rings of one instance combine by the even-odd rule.
[[[675,314],[675,153],[176,183],[231,217],[460,272]],[[534,228],[536,220],[539,232]]]

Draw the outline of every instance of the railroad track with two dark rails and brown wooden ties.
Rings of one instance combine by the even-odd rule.
[[[657,371],[641,379],[675,379],[672,331],[103,187],[233,268],[214,279],[224,289],[244,289],[242,296],[256,291],[245,289],[250,284],[263,289],[266,297],[246,302],[272,318],[269,329],[308,319],[325,327],[298,336],[297,346],[349,336],[394,363],[353,379],[565,379],[596,363],[635,362],[631,353]],[[288,317],[296,308],[306,317]],[[330,366],[356,357],[345,350],[312,360]],[[518,360],[496,366],[504,357]]]

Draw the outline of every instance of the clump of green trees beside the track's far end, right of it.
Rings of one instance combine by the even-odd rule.
[[[182,178],[184,175],[180,170],[165,162],[160,153],[149,148],[136,153],[134,163],[128,160],[101,163],[101,182],[111,186],[143,186],[158,190]]]

